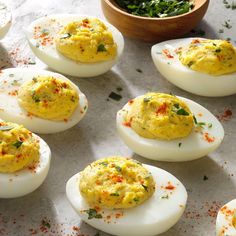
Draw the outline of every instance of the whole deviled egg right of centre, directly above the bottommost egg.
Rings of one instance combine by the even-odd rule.
[[[118,134],[135,153],[159,161],[189,161],[214,151],[224,130],[206,108],[187,98],[147,93],[116,117]]]

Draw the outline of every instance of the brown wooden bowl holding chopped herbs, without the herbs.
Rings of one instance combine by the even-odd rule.
[[[101,6],[106,19],[125,36],[146,42],[160,42],[178,38],[193,29],[205,15],[209,1],[195,0],[190,12],[165,18],[129,14],[115,0],[101,0]]]

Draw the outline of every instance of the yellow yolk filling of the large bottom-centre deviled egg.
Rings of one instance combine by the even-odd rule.
[[[149,171],[141,163],[128,158],[108,157],[95,161],[80,176],[81,195],[92,207],[134,207],[155,191],[155,182]]]

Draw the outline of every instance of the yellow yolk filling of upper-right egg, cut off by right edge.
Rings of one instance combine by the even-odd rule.
[[[178,53],[181,63],[195,71],[216,76],[236,72],[236,48],[225,40],[195,39]]]

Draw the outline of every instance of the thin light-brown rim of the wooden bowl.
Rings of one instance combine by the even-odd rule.
[[[199,4],[199,6],[197,8],[193,8],[191,11],[181,14],[181,15],[177,15],[177,16],[169,16],[169,17],[163,17],[163,18],[159,18],[159,17],[147,17],[147,16],[136,16],[136,15],[132,15],[126,11],[122,11],[122,8],[118,8],[116,7],[113,3],[111,3],[111,0],[101,0],[103,2],[105,2],[107,5],[109,5],[111,8],[113,8],[113,10],[118,11],[119,13],[126,15],[127,17],[131,17],[137,20],[149,20],[149,21],[156,21],[156,20],[160,20],[160,21],[164,21],[164,20],[172,20],[172,19],[176,19],[176,18],[180,18],[182,16],[186,16],[186,15],[191,15],[192,13],[194,13],[195,11],[199,10],[201,7],[203,7],[204,5],[208,5],[210,0],[201,0],[201,4]]]

